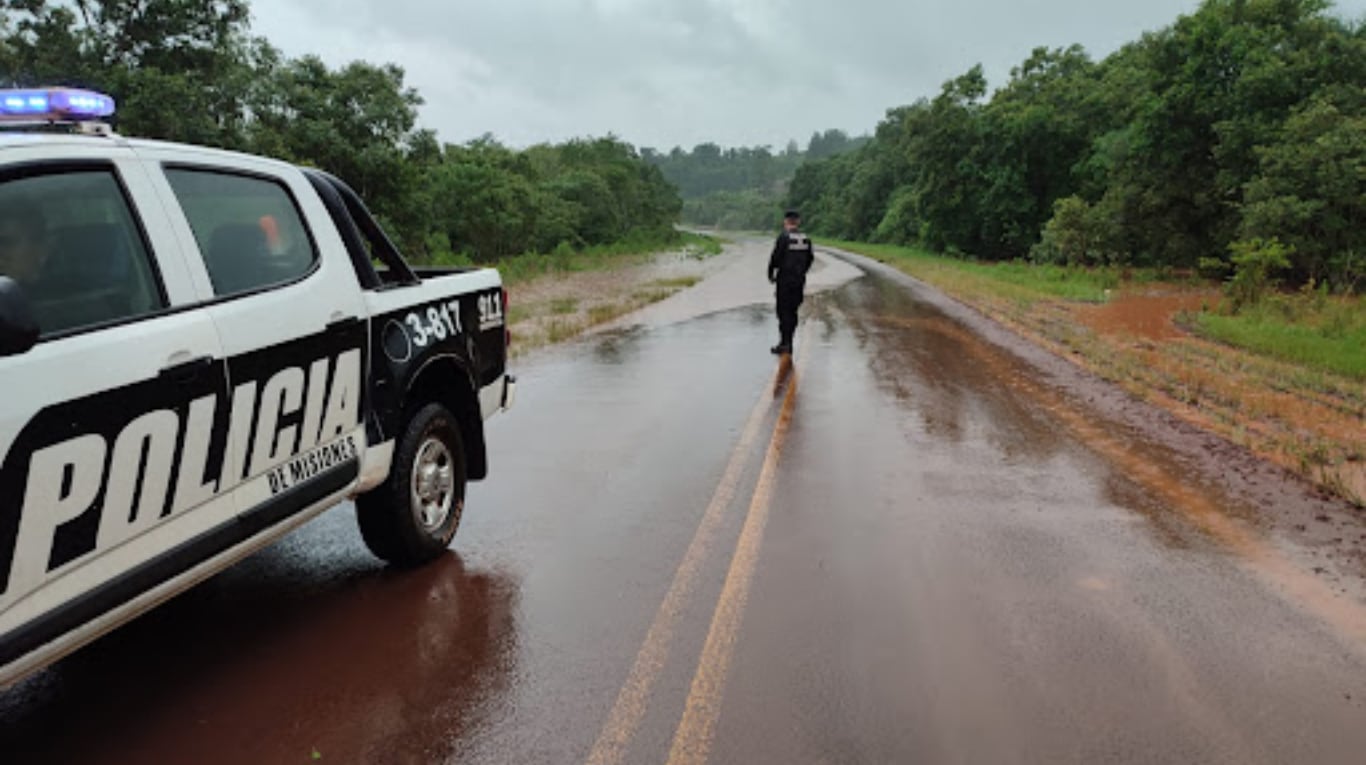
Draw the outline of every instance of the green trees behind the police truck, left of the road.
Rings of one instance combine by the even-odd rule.
[[[663,243],[680,212],[615,138],[512,150],[440,145],[395,66],[329,68],[254,37],[246,0],[0,0],[0,86],[112,94],[126,135],[245,150],[352,184],[418,260]]]

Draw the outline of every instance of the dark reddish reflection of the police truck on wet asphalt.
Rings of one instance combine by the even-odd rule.
[[[290,541],[311,537],[305,527]],[[249,559],[5,691],[0,751],[111,764],[455,754],[462,731],[482,725],[479,699],[515,676],[516,583],[455,553],[320,581],[326,567],[296,555],[313,553]]]

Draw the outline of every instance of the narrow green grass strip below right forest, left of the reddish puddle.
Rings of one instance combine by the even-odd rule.
[[[880,260],[926,281],[937,283],[944,277],[953,276],[975,277],[993,287],[993,291],[1001,296],[1023,302],[1048,296],[1104,303],[1108,298],[1106,291],[1119,287],[1121,281],[1121,273],[1117,269],[1035,265],[1023,261],[977,262],[896,245],[866,245],[829,239],[818,240],[817,245],[829,245]],[[1128,276],[1141,275],[1131,273]]]

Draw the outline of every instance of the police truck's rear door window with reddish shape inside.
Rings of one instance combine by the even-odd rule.
[[[299,208],[283,184],[183,168],[167,169],[167,179],[194,230],[214,295],[295,281],[317,262]]]

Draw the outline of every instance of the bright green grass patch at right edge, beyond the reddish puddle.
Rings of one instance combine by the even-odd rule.
[[[1191,322],[1220,343],[1366,380],[1366,307],[1361,298],[1277,296],[1238,316],[1206,311]]]

